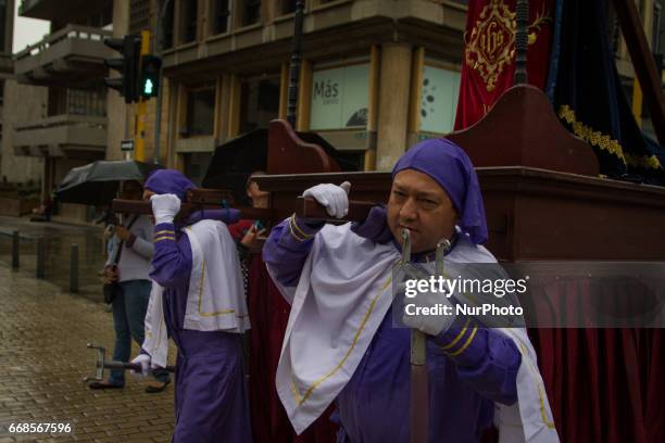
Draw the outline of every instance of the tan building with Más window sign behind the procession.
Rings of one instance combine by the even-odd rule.
[[[296,1],[145,0],[131,8],[139,3],[150,9],[153,48],[165,4],[159,157],[200,180],[216,145],[286,116]],[[298,129],[319,132],[365,169],[388,168],[418,137],[448,132],[464,3],[306,1]],[[148,103],[148,159],[155,103]]]

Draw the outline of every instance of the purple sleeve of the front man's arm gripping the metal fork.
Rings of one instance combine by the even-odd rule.
[[[456,325],[457,321],[462,325]],[[505,405],[517,401],[522,354],[510,337],[469,318],[460,318],[435,342],[455,363],[460,378],[480,394]]]

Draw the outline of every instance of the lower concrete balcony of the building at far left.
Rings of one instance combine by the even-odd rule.
[[[106,117],[63,114],[14,126],[16,155],[99,160],[106,151]]]

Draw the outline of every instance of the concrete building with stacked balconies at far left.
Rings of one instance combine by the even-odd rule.
[[[15,112],[5,147],[39,161],[43,198],[72,167],[105,156],[103,60],[112,51],[102,40],[112,35],[113,1],[23,0],[18,14],[51,23],[42,40],[14,54],[8,93]],[[60,215],[88,218],[78,205],[61,205]]]

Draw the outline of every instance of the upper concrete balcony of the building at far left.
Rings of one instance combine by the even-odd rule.
[[[113,51],[103,43],[112,33],[67,25],[14,55],[16,79],[25,85],[93,87],[109,69],[104,59]]]

